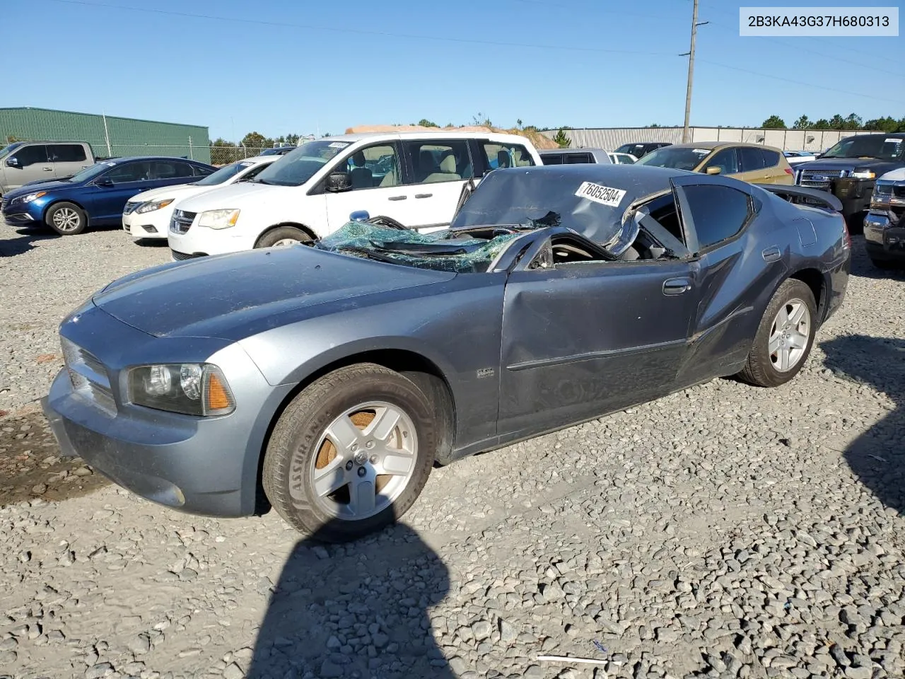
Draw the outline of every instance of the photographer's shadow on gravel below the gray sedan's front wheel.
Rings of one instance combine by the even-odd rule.
[[[355,542],[300,540],[272,588],[248,679],[452,679],[428,609],[449,591],[443,561],[397,523]]]

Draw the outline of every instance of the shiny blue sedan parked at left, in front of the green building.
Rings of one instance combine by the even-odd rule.
[[[119,225],[132,196],[158,186],[188,184],[216,167],[184,158],[113,158],[62,181],[27,184],[3,196],[3,216],[13,226],[50,226],[61,235],[88,226]]]

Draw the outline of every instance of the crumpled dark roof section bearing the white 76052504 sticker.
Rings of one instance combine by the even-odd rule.
[[[624,186],[583,178],[557,166],[494,170],[450,226],[566,226],[597,244],[607,244],[621,233],[622,216],[633,196]]]

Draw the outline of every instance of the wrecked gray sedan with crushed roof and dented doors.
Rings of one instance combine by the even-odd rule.
[[[793,378],[850,244],[833,205],[783,190],[501,169],[434,234],[352,222],[133,273],[63,320],[45,412],[64,453],[150,500],[269,503],[355,538],[405,513],[435,463],[710,378]]]

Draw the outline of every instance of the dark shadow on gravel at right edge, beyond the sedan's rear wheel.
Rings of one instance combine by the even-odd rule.
[[[895,408],[845,449],[845,461],[887,507],[905,514],[905,339],[843,336],[821,343],[825,365],[885,393]]]

